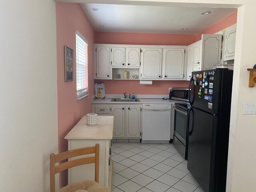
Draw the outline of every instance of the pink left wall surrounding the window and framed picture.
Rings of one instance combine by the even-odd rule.
[[[89,94],[76,99],[76,30],[88,40]],[[94,29],[78,3],[56,3],[57,34],[57,91],[58,91],[58,146],[59,152],[68,150],[66,134],[82,116],[91,112],[91,96],[94,94],[93,43]],[[64,82],[64,45],[74,50],[74,80]],[[67,172],[60,174],[60,187],[68,182]]]

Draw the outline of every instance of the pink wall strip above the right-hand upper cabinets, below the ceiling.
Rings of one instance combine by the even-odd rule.
[[[202,34],[214,34],[216,32],[219,32],[231,25],[236,24],[236,19],[237,19],[237,12],[228,16],[224,20],[218,22],[217,24],[209,27],[206,30],[203,30],[201,33],[196,35],[196,41],[199,41],[202,37]]]

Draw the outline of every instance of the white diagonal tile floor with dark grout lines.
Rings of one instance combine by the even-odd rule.
[[[204,192],[173,144],[112,143],[112,192]]]

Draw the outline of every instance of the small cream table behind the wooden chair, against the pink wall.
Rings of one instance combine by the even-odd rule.
[[[68,150],[100,144],[99,183],[109,191],[112,190],[113,162],[110,147],[113,124],[113,116],[98,116],[96,125],[87,125],[86,116],[83,116],[65,136],[68,140]],[[94,164],[77,166],[68,170],[68,184],[82,180],[94,180]]]

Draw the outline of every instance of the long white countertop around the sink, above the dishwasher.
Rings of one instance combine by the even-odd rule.
[[[124,101],[121,101],[121,102],[117,102],[117,101],[111,101],[111,98],[105,98],[105,99],[95,99],[92,103],[93,104],[96,104],[96,103],[102,103],[102,104],[174,104],[176,102],[179,102],[179,103],[183,103],[184,101],[179,101],[179,100],[169,100],[169,99],[140,99],[140,102],[124,102]],[[186,103],[186,102],[184,102]]]

